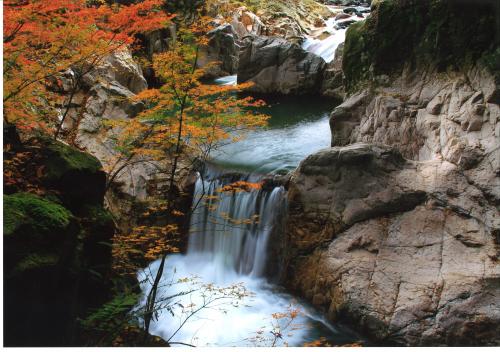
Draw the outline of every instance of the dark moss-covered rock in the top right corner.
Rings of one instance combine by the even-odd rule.
[[[349,91],[404,65],[459,70],[498,47],[494,0],[380,0],[346,34],[343,70]]]

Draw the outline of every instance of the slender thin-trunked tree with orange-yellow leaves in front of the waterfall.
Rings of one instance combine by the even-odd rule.
[[[120,130],[116,143],[121,157],[114,170],[110,170],[110,178],[117,177],[125,165],[155,162],[161,165],[159,170],[168,180],[162,207],[169,219],[164,227],[168,231],[159,236],[163,240],[153,244],[160,265],[145,301],[145,339],[156,311],[157,291],[169,252],[168,241],[164,239],[178,232],[176,217],[186,215],[179,214],[175,207],[176,175],[181,168],[192,167],[195,160],[206,160],[214,149],[242,138],[245,131],[263,126],[267,120],[267,116],[255,110],[263,105],[262,101],[236,94],[247,85],[216,86],[201,82],[207,68],[197,68],[198,51],[207,43],[203,35],[207,29],[208,20],[202,18],[198,25],[181,30],[170,50],[155,55],[153,68],[163,85],[134,98],[146,106],[135,119],[112,122]],[[158,236],[150,236],[155,237]]]

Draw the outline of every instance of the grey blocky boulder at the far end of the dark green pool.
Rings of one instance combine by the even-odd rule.
[[[325,61],[300,46],[275,37],[247,37],[239,55],[238,83],[253,92],[314,94],[321,89]]]

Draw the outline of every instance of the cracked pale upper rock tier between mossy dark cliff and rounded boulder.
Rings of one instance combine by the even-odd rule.
[[[480,67],[466,75],[403,77],[375,93],[355,94],[337,107],[330,119],[332,145],[383,143],[409,159],[448,161],[498,204],[498,89],[493,76]]]

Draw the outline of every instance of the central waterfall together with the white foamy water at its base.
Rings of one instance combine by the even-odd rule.
[[[279,292],[263,277],[271,231],[279,226],[276,220],[283,216],[286,207],[285,190],[276,187],[270,191],[220,194],[218,190],[234,181],[234,177],[224,180],[224,176],[213,171],[205,177],[207,179],[199,178],[196,183],[194,204],[200,206],[191,218],[188,252],[167,258],[159,297],[197,291],[167,300],[172,314],[163,309],[152,322],[150,332],[165,340],[174,335],[171,341],[195,346],[271,346],[273,342],[277,346],[285,343],[301,346],[318,337],[315,333],[318,325],[329,335],[338,335],[321,316],[292,296]],[[256,177],[241,179],[258,180]],[[258,215],[256,224],[235,225],[227,218],[245,220],[254,215]],[[158,266],[156,261],[139,273],[144,293],[149,292],[152,274]],[[205,286],[209,283],[221,288],[236,283],[242,286],[219,290]],[[249,292],[252,294],[247,295]],[[239,294],[242,297],[237,298]],[[222,298],[187,319],[175,333],[194,309],[214,297]],[[145,297],[139,306],[144,304]],[[290,318],[276,320],[272,315],[286,313],[290,307],[301,313],[285,328]],[[272,331],[279,331],[283,338],[274,341]]]

